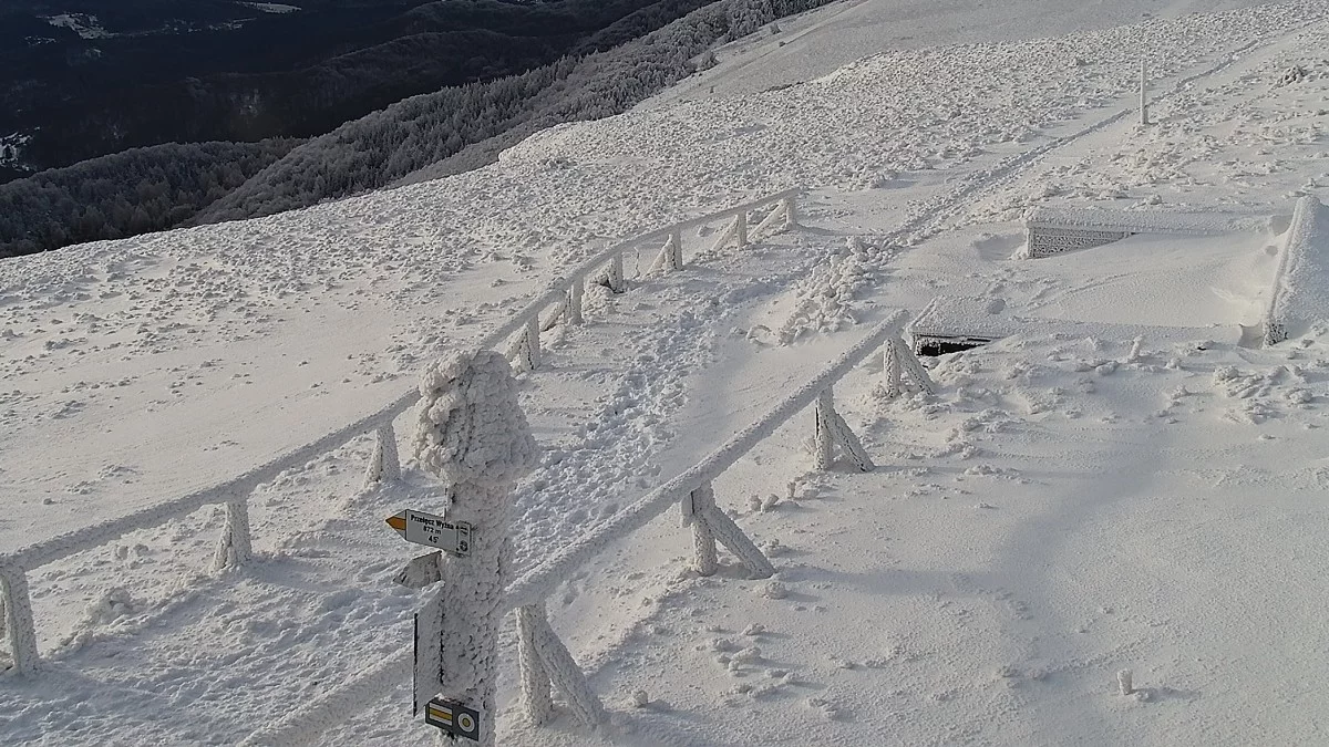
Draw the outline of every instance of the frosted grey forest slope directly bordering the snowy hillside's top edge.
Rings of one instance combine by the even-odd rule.
[[[708,3],[606,52],[408,98],[295,148],[193,222],[270,215],[481,167],[538,130],[622,113],[704,66],[711,47],[831,1]]]

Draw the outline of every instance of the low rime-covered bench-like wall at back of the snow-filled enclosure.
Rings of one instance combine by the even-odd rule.
[[[1107,210],[1100,207],[1034,207],[1025,214],[1027,241],[1018,259],[1038,259],[1075,249],[1103,246],[1135,234],[1208,237],[1239,230],[1221,213]]]

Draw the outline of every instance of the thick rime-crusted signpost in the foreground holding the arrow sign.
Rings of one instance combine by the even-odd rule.
[[[529,332],[528,332],[529,334]],[[420,380],[415,433],[420,468],[441,481],[443,516],[470,524],[466,557],[448,557],[443,585],[420,615],[437,637],[437,667],[421,669],[417,698],[460,700],[480,711],[480,744],[494,744],[498,622],[510,574],[512,484],[536,465],[536,441],[517,401],[508,360],[492,351],[455,355]]]

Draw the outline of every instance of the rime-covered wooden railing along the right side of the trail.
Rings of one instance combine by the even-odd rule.
[[[748,573],[758,578],[775,569],[766,554],[726,516],[715,502],[714,481],[747,455],[758,443],[795,415],[815,408],[813,467],[827,469],[836,456],[843,456],[859,469],[870,471],[873,463],[845,420],[835,408],[835,384],[872,355],[882,356],[882,393],[898,396],[904,380],[922,392],[932,392],[926,370],[901,339],[908,315],[897,311],[878,323],[849,350],[836,358],[812,380],[795,389],[759,420],[739,431],[707,457],[680,475],[614,513],[595,530],[556,552],[544,562],[513,581],[501,605],[502,611],[516,611],[518,626],[518,666],[521,704],[528,719],[544,723],[552,715],[550,693],[557,687],[579,720],[595,724],[605,718],[599,698],[589,689],[575,661],[549,625],[546,599],[557,586],[611,544],[671,509],[678,509],[680,522],[691,529],[694,569],[702,576],[718,570],[716,541],[726,545]],[[682,541],[682,540],[680,540]],[[412,678],[412,650],[401,649],[395,657],[360,677],[304,703],[284,719],[262,728],[246,739],[246,746],[292,746],[316,743],[319,736],[351,719]]]

